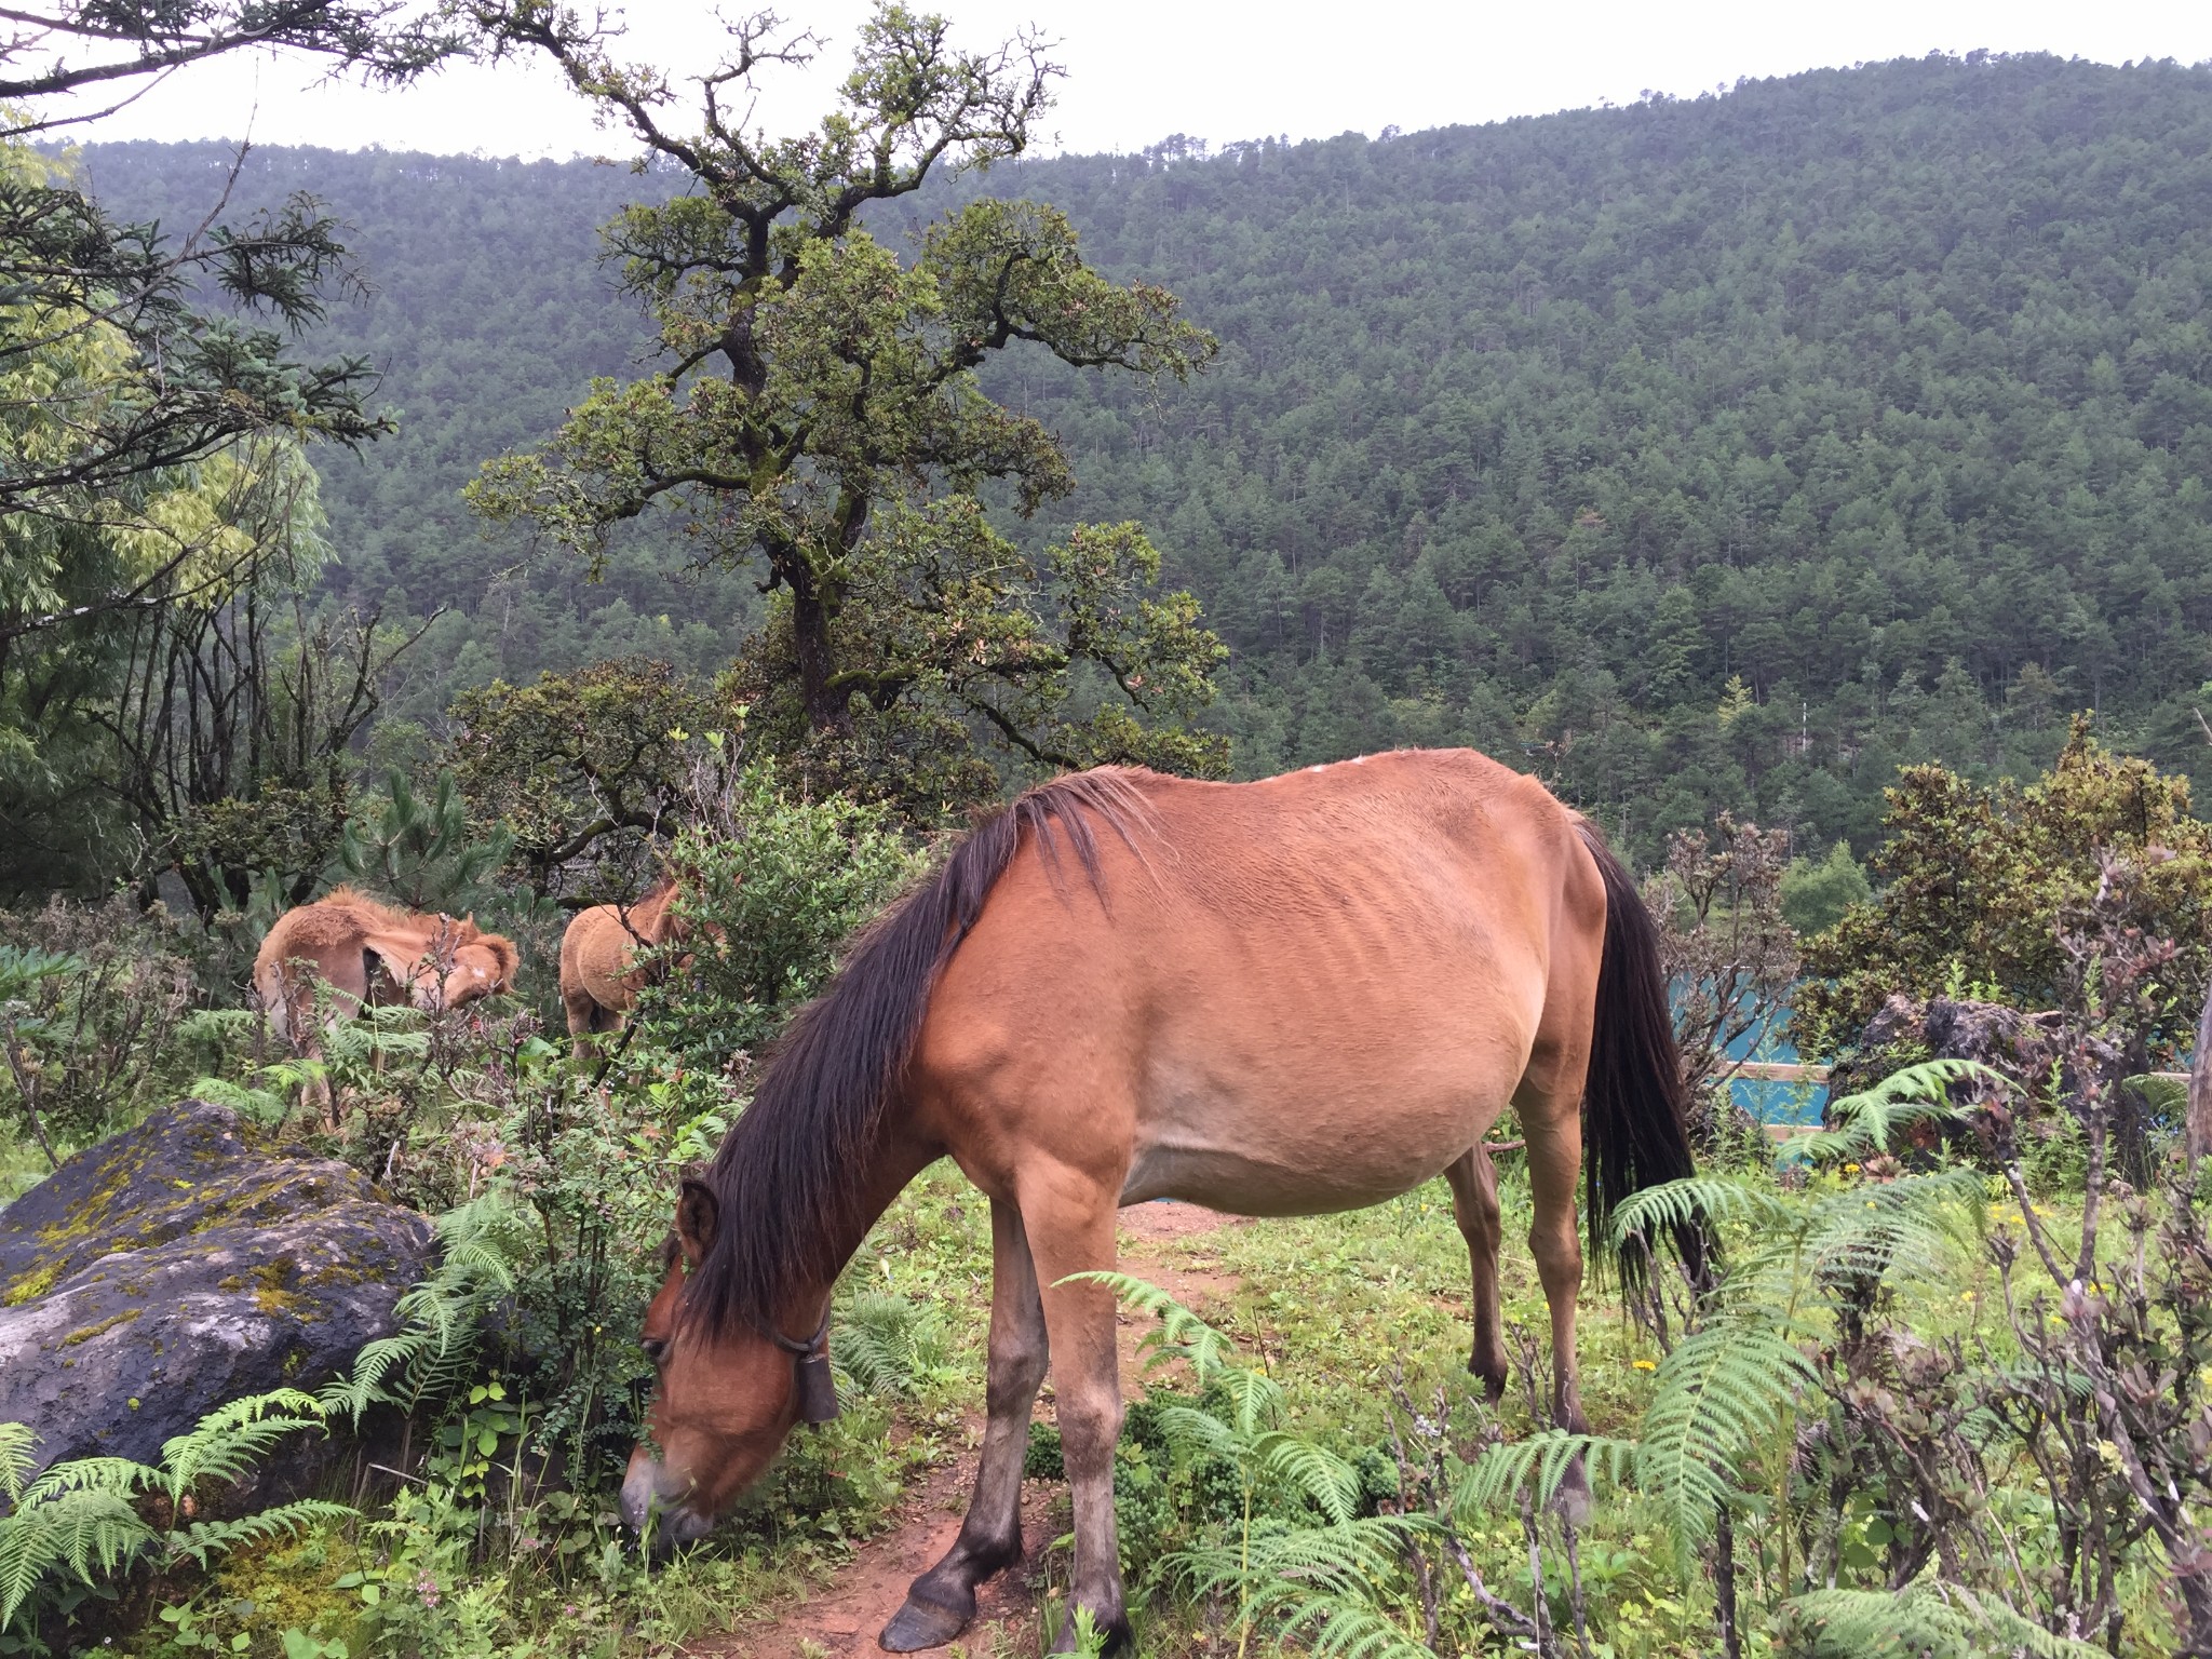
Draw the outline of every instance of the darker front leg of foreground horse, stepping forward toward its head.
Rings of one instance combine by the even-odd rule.
[[[1044,1360],[1044,1303],[1022,1212],[991,1199],[991,1380],[975,1495],[945,1559],[914,1579],[905,1606],[883,1626],[885,1650],[942,1648],[975,1617],[975,1586],[1022,1559],[1022,1458]]]

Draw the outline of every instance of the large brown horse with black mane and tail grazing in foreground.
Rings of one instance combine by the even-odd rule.
[[[1177,1197],[1323,1214],[1442,1172],[1473,1261],[1471,1365],[1495,1396],[1502,1225],[1480,1148],[1509,1104],[1553,1411],[1579,1429],[1584,1135],[1593,1239],[1628,1192],[1690,1172],[1652,922],[1597,832],[1467,750],[1265,783],[1099,770],[1031,790],[860,940],[708,1177],[684,1183],[644,1329],[661,1455],[630,1458],[624,1513],[697,1537],[801,1416],[834,1411],[836,1274],[951,1157],[991,1199],[989,1425],[960,1537],[880,1641],[953,1639],[975,1586],[1020,1555],[1046,1354],[1075,1500],[1071,1606],[1126,1637],[1115,1301],[1071,1279],[1115,1265],[1115,1210]]]

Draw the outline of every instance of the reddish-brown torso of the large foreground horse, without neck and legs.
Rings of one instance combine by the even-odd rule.
[[[1126,1197],[1248,1212],[1405,1190],[1498,1117],[1562,936],[1601,929],[1575,818],[1464,750],[1261,783],[1141,779],[1097,889],[1035,847],[940,982],[920,1068]],[[1051,1121],[1048,1102],[1064,1102]]]

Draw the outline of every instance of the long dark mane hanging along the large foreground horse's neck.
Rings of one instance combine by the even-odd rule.
[[[836,1279],[874,1221],[867,1168],[900,1102],[929,993],[1022,832],[1055,878],[1066,841],[1104,896],[1091,818],[1135,847],[1133,832],[1148,816],[1141,776],[1102,768],[1029,790],[860,936],[830,989],[776,1042],[752,1106],[706,1172],[714,1241],[686,1290],[686,1318],[710,1336],[739,1325],[765,1332],[792,1296]]]

